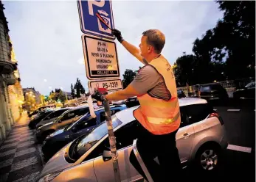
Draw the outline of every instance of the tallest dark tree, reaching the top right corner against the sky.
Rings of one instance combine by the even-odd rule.
[[[195,40],[193,52],[229,79],[255,76],[255,1],[216,2],[224,18]]]

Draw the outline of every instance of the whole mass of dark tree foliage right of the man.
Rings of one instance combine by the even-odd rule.
[[[177,84],[255,76],[255,1],[216,1],[224,18],[176,60]]]

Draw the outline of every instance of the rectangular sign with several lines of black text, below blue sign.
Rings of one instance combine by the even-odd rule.
[[[120,77],[116,43],[82,35],[86,76],[92,79]]]

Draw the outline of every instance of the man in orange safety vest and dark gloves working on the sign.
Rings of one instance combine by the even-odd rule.
[[[99,101],[103,101],[103,97],[108,101],[120,101],[137,96],[140,106],[134,110],[134,117],[139,122],[136,132],[139,155],[154,182],[172,181],[180,177],[181,172],[176,148],[176,132],[181,124],[181,116],[173,69],[161,54],[165,35],[157,29],[149,29],[142,33],[141,43],[136,48],[122,38],[119,30],[114,29],[112,33],[145,66],[124,90],[104,96],[96,92],[92,97]],[[147,179],[134,151],[130,154],[130,161]]]

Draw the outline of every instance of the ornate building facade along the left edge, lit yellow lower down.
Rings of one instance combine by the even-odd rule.
[[[15,124],[15,120],[18,119],[15,109],[19,104],[15,103],[15,99],[19,98],[20,101],[22,100],[21,95],[23,95],[18,63],[12,60],[13,45],[10,42],[7,23],[4,16],[4,5],[0,1],[0,143]],[[13,114],[14,112],[15,114]]]

